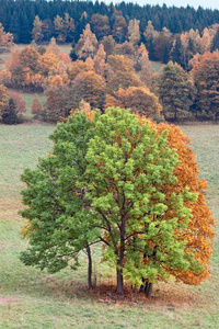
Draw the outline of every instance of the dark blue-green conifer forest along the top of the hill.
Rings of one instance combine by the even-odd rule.
[[[187,5],[186,8],[168,8],[165,4],[143,5],[120,2],[118,4],[106,4],[95,1],[32,1],[32,0],[2,0],[0,8],[0,22],[7,32],[14,35],[16,43],[28,44],[32,39],[32,30],[36,16],[43,22],[44,36],[42,41],[48,42],[56,37],[58,20],[65,20],[66,13],[73,23],[72,34],[68,34],[66,41],[77,43],[80,34],[88,23],[92,25],[92,16],[100,14],[108,21],[105,33],[113,34],[117,16],[128,24],[129,20],[140,21],[140,32],[143,31],[150,20],[157,31],[166,27],[171,33],[182,33],[191,29],[203,31],[206,26],[218,23],[219,11],[203,9],[197,10]],[[107,34],[106,34],[107,35]]]

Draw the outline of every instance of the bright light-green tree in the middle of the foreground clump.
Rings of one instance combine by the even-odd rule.
[[[196,266],[198,272],[198,262],[184,252],[184,242],[175,236],[191,218],[184,203],[195,196],[186,189],[165,195],[162,188],[174,184],[178,163],[165,134],[158,137],[147,121],[139,124],[120,109],[107,109],[96,121],[87,156],[88,200],[102,219],[104,257],[116,265],[117,292],[124,291],[124,276],[137,285],[141,277],[150,282],[165,277],[164,265]],[[166,220],[168,204],[174,216]],[[143,254],[149,258],[147,265]]]

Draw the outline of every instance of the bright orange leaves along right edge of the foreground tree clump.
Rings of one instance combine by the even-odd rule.
[[[154,126],[154,124],[152,124]],[[165,194],[182,193],[185,188],[189,188],[189,192],[196,193],[197,198],[193,203],[185,204],[192,209],[193,218],[188,223],[183,235],[178,236],[178,240],[185,241],[185,251],[193,253],[203,265],[201,273],[195,273],[192,270],[171,270],[170,273],[177,281],[186,284],[199,284],[209,276],[208,265],[212,253],[212,238],[215,236],[212,226],[216,225],[209,207],[206,204],[205,191],[207,183],[198,178],[198,164],[193,150],[188,147],[189,138],[183,134],[180,127],[169,124],[155,125],[158,133],[168,129],[169,146],[176,150],[180,164],[175,168],[174,174],[177,182],[173,185],[163,186]],[[171,207],[165,214],[166,219],[173,216]],[[176,232],[177,235],[177,232]]]

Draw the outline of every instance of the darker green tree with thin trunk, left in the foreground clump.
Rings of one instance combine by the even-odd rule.
[[[76,113],[67,124],[59,124],[50,139],[53,150],[35,170],[26,169],[22,181],[25,207],[21,214],[27,219],[22,229],[30,248],[22,252],[26,265],[58,272],[70,263],[79,265],[78,253],[89,257],[88,285],[92,286],[90,245],[99,241],[95,217],[84,201],[80,185],[87,167],[88,140],[92,137],[92,122],[84,113]]]

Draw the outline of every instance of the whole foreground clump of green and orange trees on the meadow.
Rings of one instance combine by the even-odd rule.
[[[191,184],[180,173],[177,180],[181,147],[171,144],[166,126],[159,127],[119,107],[103,115],[77,112],[59,124],[48,157],[22,175],[23,235],[30,239],[22,261],[55,272],[72,259],[77,265],[84,249],[91,286],[90,246],[101,241],[104,259],[116,269],[119,294],[124,277],[138,286],[147,282],[148,295],[152,283],[171,275],[205,280],[215,222],[209,211],[198,215],[205,202],[194,193],[205,186],[195,169]]]

